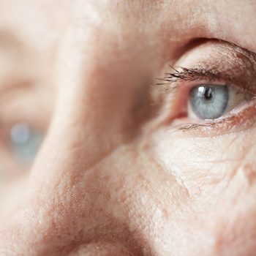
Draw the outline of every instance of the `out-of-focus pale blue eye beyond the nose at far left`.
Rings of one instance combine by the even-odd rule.
[[[30,164],[37,155],[42,139],[42,133],[32,129],[28,124],[15,124],[10,129],[12,154],[18,161]]]

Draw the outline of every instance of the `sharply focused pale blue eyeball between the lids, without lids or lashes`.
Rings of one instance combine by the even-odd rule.
[[[200,85],[189,92],[188,115],[203,120],[217,119],[249,98],[231,86]]]

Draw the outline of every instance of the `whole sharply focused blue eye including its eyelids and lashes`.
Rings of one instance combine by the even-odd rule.
[[[226,45],[221,47],[224,50]],[[227,47],[228,52],[232,50],[236,53],[238,48]],[[203,60],[201,55],[197,60],[194,56],[193,62],[187,61],[192,67],[170,67],[172,72],[158,83],[167,88],[176,102],[176,116],[170,127],[183,131],[197,129],[201,135],[212,135],[212,130],[219,134],[250,127],[256,113],[254,53],[245,50],[237,61],[236,54],[230,53],[233,58],[230,61],[222,59],[227,53],[214,57],[209,49],[207,52],[210,60],[207,55],[203,55]],[[218,66],[214,59],[219,61]]]

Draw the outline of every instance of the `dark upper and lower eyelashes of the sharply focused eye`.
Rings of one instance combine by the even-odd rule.
[[[159,82],[156,83],[156,86],[162,86],[161,91],[165,94],[173,94],[176,90],[181,86],[181,82],[198,82],[202,83],[202,80],[207,83],[219,83],[222,81],[223,85],[229,85],[236,89],[238,94],[251,94],[252,99],[256,99],[256,94],[254,95],[251,90],[247,89],[245,86],[237,86],[233,81],[233,78],[230,75],[223,75],[220,72],[212,72],[209,69],[204,68],[191,68],[188,69],[186,67],[173,67],[169,65],[170,69],[173,72],[165,73],[165,78],[156,78]],[[179,69],[179,70],[178,70]],[[198,85],[197,83],[197,85]],[[203,82],[205,83],[205,82]],[[193,87],[193,86],[192,86]],[[191,87],[191,88],[192,88]],[[219,121],[211,121],[211,122],[202,122],[202,123],[189,123],[183,124],[181,127],[178,127],[175,131],[187,132],[193,129],[201,129],[201,128],[217,128],[219,124],[222,124],[224,121],[232,121],[232,117],[222,118]]]

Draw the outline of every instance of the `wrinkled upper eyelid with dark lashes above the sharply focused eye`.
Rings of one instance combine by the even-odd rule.
[[[165,86],[166,92],[168,87],[178,87],[177,82],[181,81],[221,82],[235,86],[241,91],[256,94],[256,53],[233,43],[215,39],[203,45],[212,49],[208,57],[199,57],[189,68],[169,65],[171,71],[165,73],[164,78],[157,78],[156,85]],[[211,52],[214,54],[211,55]]]

